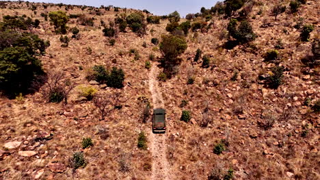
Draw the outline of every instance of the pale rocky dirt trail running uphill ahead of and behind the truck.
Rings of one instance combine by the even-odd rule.
[[[149,75],[149,88],[152,94],[153,108],[164,108],[164,102],[159,89],[157,74],[159,68],[153,64]],[[169,164],[165,155],[167,151],[166,134],[153,134],[150,128],[150,148],[152,151],[152,177],[151,179],[170,179]]]

